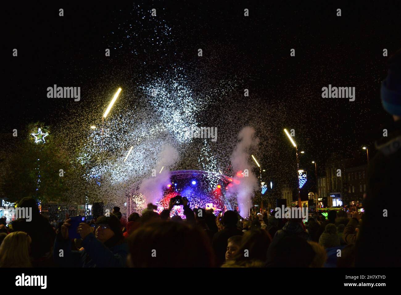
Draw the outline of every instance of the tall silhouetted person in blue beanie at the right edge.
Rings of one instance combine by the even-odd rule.
[[[355,245],[355,267],[401,266],[400,238],[395,234],[399,231],[395,198],[400,195],[401,49],[389,57],[387,69],[380,95],[382,106],[393,116],[393,122],[380,128],[377,136],[380,139],[375,142],[376,155],[369,160],[365,212]]]

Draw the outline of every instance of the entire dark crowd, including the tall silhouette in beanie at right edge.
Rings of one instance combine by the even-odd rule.
[[[384,109],[393,115],[387,136],[375,143],[369,162],[365,212],[314,212],[308,221],[238,212],[223,215],[191,208],[185,219],[170,217],[174,201],[160,214],[153,204],[127,220],[119,208],[73,229],[71,218],[52,226],[36,200],[19,208],[32,218],[0,220],[0,267],[399,267],[399,178],[401,167],[401,52],[389,60],[381,86]]]

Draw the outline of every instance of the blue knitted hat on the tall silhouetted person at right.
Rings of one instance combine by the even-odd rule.
[[[381,102],[390,114],[401,116],[401,49],[387,62],[388,72],[381,82]]]

